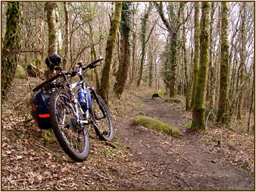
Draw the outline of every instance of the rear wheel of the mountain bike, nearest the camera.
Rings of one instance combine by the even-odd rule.
[[[54,134],[65,153],[74,161],[81,162],[89,154],[89,136],[86,125],[79,124],[74,110],[67,93],[52,93],[49,113]]]

